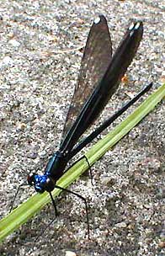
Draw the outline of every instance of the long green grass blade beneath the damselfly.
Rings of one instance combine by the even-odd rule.
[[[88,157],[88,162],[92,165],[100,157],[104,155],[111,147],[113,147],[122,137],[124,137],[134,126],[136,126],[154,107],[165,97],[165,84],[152,93],[131,115],[117,125],[113,131],[110,131],[104,139],[98,141],[85,154]],[[57,184],[63,188],[67,188],[72,184],[82,173],[88,169],[88,163],[85,159],[77,162],[67,173],[65,173]],[[61,193],[60,189],[54,189],[52,195],[55,197]],[[0,241],[18,229],[22,224],[34,216],[41,208],[51,201],[50,195],[44,193],[36,194],[19,205],[8,216],[0,221]]]

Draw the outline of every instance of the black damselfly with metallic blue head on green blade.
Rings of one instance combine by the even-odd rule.
[[[77,85],[67,113],[60,148],[50,158],[43,175],[32,173],[28,176],[28,184],[34,186],[35,190],[39,193],[47,191],[51,195],[51,191],[57,188],[69,191],[84,200],[87,211],[87,221],[88,207],[83,196],[59,187],[56,182],[61,178],[63,173],[66,172],[67,163],[77,152],[80,152],[83,147],[93,141],[100,132],[104,131],[104,129],[124,113],[131,104],[134,104],[141,95],[152,87],[151,83],[143,88],[136,97],[126,103],[108,120],[105,120],[102,125],[83,139],[83,141],[79,142],[79,144],[77,143],[83,133],[87,131],[88,127],[98,118],[104,106],[119,87],[121,78],[124,76],[127,67],[129,67],[130,62],[136,55],[142,34],[143,24],[141,21],[131,24],[112,57],[112,43],[107,21],[103,15],[98,16],[98,18],[94,20],[88,34]],[[56,204],[52,195],[51,200],[56,211]]]

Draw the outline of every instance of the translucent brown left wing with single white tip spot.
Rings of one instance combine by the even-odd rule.
[[[75,87],[72,103],[67,113],[62,138],[67,136],[67,132],[71,129],[72,124],[82,110],[83,104],[104,77],[111,57],[112,44],[108,24],[104,16],[100,15],[94,20],[88,34],[77,86]]]

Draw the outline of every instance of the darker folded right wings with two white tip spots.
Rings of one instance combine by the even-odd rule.
[[[142,34],[142,22],[132,24],[126,31],[104,76],[101,81],[98,81],[96,88],[83,105],[80,114],[77,116],[77,120],[75,120],[66,138],[62,142],[60,147],[61,152],[66,152],[69,156],[72,147],[75,146],[79,137],[82,136],[84,131],[98,118],[104,106],[119,87],[121,77],[123,77],[127,67],[129,67],[130,62],[136,55]]]

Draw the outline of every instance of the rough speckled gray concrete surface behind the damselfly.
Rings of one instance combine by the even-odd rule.
[[[43,171],[59,145],[82,55],[80,51],[59,51],[84,45],[98,13],[108,19],[114,48],[131,19],[143,20],[144,37],[127,72],[130,83],[120,87],[113,103],[104,110],[104,120],[129,99],[129,93],[148,83],[151,75],[154,88],[160,85],[165,19],[162,3],[0,1],[1,216],[8,213],[18,183],[29,172]],[[58,202],[61,215],[51,230],[34,244],[54,216],[48,205],[1,244],[0,255],[58,256],[66,255],[67,250],[79,256],[164,255],[164,120],[161,103],[94,165],[93,187],[88,178],[82,178],[70,188],[88,200],[90,241],[84,238],[83,203],[62,194]],[[32,193],[33,189],[23,190],[21,200]]]

